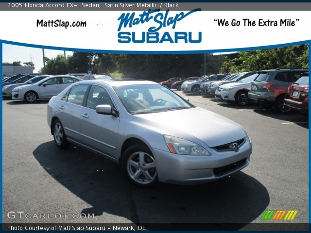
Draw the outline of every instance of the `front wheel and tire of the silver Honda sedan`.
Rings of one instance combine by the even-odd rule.
[[[122,168],[128,179],[138,186],[151,186],[158,181],[155,158],[144,145],[133,145],[125,150]]]

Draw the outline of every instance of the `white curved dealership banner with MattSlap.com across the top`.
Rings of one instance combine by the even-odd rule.
[[[311,3],[2,2],[0,39],[122,53],[236,51],[310,40],[310,10]]]

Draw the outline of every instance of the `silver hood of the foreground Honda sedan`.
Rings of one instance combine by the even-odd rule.
[[[134,116],[144,119],[147,127],[160,129],[158,132],[198,143],[198,140],[194,141],[195,137],[208,147],[224,145],[247,136],[239,124],[199,107]]]

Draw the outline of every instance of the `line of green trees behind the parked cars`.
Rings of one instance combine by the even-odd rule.
[[[90,69],[94,74],[117,71],[122,73],[123,78],[162,81],[172,77],[200,77],[277,67],[309,68],[309,47],[308,44],[302,44],[226,55],[73,52],[71,56],[58,54],[55,58],[45,60],[45,70],[41,68],[40,73],[86,73]]]

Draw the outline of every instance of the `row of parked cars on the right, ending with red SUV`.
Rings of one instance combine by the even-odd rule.
[[[181,90],[194,95],[209,94],[240,106],[257,102],[263,108],[275,107],[280,113],[287,113],[292,108],[305,114],[309,112],[307,69],[277,68],[231,75],[213,74],[183,82]]]

